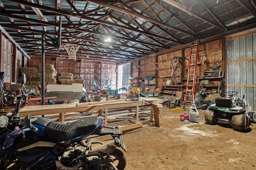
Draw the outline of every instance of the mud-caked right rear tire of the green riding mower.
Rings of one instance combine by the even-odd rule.
[[[249,116],[248,113],[232,116],[232,127],[235,130],[245,131],[249,128]]]

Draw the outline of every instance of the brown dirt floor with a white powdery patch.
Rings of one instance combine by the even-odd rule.
[[[239,132],[206,124],[198,111],[199,123],[186,124],[183,109],[160,108],[160,127],[124,134],[125,170],[256,170],[256,124]]]

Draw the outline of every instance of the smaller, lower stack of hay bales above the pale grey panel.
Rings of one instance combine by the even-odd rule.
[[[72,73],[59,73],[58,83],[62,85],[72,85],[73,83],[80,83],[84,86],[84,79],[81,76],[73,76]]]

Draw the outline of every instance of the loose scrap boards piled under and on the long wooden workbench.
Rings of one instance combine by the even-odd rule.
[[[148,98],[149,99],[149,98]],[[158,101],[159,99],[156,99]],[[162,101],[162,100],[160,100]],[[78,107],[91,107],[98,105],[119,105],[120,103],[126,103],[127,107],[121,108],[114,108],[114,109],[102,109],[102,110],[87,110],[83,112],[74,112],[74,113],[66,113],[65,114],[65,123],[76,121],[80,119],[80,117],[91,117],[91,116],[98,116],[101,119],[105,119],[105,126],[108,127],[123,127],[124,132],[131,132],[144,130],[147,129],[148,124],[152,122],[152,115],[154,113],[154,109],[152,105],[147,102],[144,102],[146,105],[141,105],[138,107],[138,118],[137,118],[137,108],[136,107],[129,107],[128,103],[131,101],[126,100],[113,100],[113,101],[101,101],[101,102],[88,102],[88,103],[78,103],[76,104]],[[162,107],[162,104],[154,104],[158,108]],[[56,115],[47,115],[45,116],[46,119],[50,119],[51,121],[61,121],[58,114]],[[137,120],[138,119],[138,120]]]

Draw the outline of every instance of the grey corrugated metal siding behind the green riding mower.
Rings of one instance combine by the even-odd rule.
[[[237,91],[236,97],[239,98],[244,95],[244,100],[248,104],[247,109],[250,111],[256,111],[256,87],[229,87],[229,85],[256,85],[255,57],[256,34],[228,40],[227,61],[234,61],[227,62],[227,91]]]

